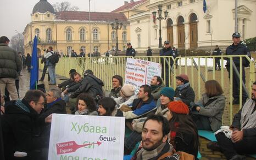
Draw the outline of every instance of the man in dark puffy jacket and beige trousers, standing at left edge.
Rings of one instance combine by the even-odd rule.
[[[0,91],[4,95],[5,87],[13,100],[18,100],[15,79],[21,70],[21,61],[15,50],[9,47],[10,40],[0,37]]]

